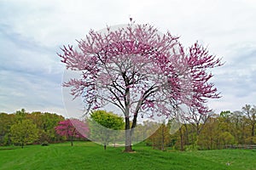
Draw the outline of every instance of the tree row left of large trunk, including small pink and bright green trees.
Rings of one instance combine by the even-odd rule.
[[[117,138],[118,129],[124,129],[124,120],[112,112],[92,111],[90,119],[65,119],[55,113],[35,111],[26,112],[24,109],[13,114],[0,113],[0,145],[59,143],[66,140],[89,140],[107,145]],[[113,129],[111,131],[109,129]]]

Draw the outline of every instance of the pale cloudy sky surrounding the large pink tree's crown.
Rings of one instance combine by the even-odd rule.
[[[65,65],[56,53],[93,30],[148,23],[198,41],[224,65],[212,70],[221,99],[213,111],[256,105],[256,1],[254,0],[0,0],[0,112],[48,111],[67,116]]]

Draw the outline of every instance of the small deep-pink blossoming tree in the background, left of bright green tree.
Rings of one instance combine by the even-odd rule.
[[[89,133],[89,127],[85,122],[81,122],[78,119],[67,119],[59,122],[59,125],[55,127],[55,131],[59,135],[70,139],[73,146],[73,138],[86,138]]]

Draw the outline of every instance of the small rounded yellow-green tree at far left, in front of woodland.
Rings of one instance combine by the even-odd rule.
[[[30,120],[21,120],[10,127],[13,143],[20,144],[23,148],[26,144],[32,144],[38,139],[38,128]]]

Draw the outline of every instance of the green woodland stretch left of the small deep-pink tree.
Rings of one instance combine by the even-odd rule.
[[[65,117],[55,113],[24,109],[13,114],[0,113],[0,145],[9,144],[42,144],[63,141],[55,132],[55,127]]]

